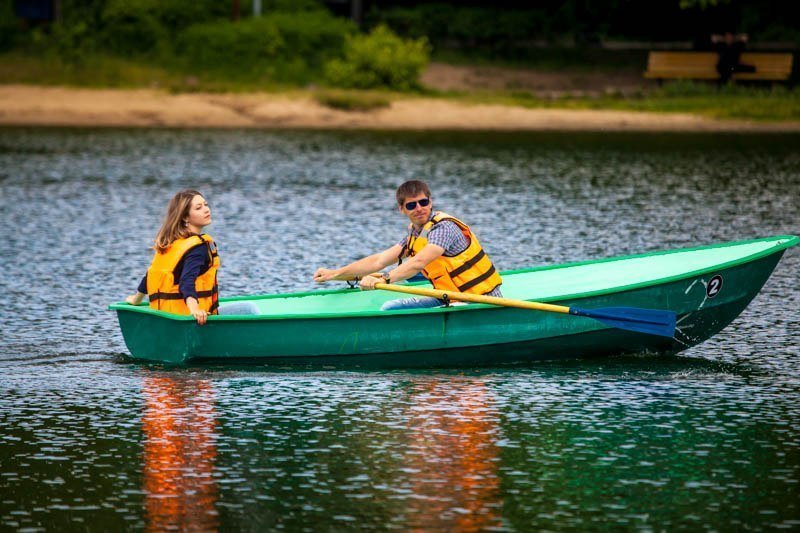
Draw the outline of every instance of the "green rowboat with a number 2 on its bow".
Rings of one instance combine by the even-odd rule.
[[[592,318],[470,304],[380,311],[403,295],[353,289],[242,296],[257,315],[192,317],[115,303],[137,360],[256,360],[370,367],[464,366],[649,352],[672,354],[727,326],[758,294],[791,235],[503,272],[506,298],[596,309],[660,309],[677,315],[673,337],[610,327]],[[423,283],[422,286],[429,286]]]

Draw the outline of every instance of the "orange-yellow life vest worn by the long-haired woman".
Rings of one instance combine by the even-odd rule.
[[[214,239],[208,235],[192,235],[184,239],[173,242],[167,251],[159,253],[156,251],[150,268],[147,269],[147,295],[150,297],[150,307],[168,313],[188,315],[189,307],[181,296],[178,282],[175,279],[175,267],[189,250],[197,246],[208,248],[210,267],[199,276],[195,281],[197,291],[197,303],[200,309],[211,314],[217,313],[219,306],[219,294],[217,289],[217,270],[220,261],[217,254],[217,246]]]

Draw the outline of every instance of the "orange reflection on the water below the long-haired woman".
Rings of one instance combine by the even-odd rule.
[[[143,393],[147,529],[217,529],[217,422],[210,382],[148,376]]]

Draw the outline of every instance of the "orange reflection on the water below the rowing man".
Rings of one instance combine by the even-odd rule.
[[[502,524],[499,427],[482,381],[434,381],[410,413],[412,528],[478,531]]]

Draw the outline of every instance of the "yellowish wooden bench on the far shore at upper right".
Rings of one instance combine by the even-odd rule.
[[[650,52],[645,78],[655,80],[718,80],[716,52]],[[737,81],[786,81],[792,77],[790,53],[743,52],[740,61],[755,72],[736,72]]]

